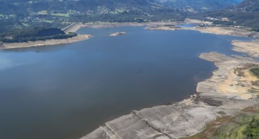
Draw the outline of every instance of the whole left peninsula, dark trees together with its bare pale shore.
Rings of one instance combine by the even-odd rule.
[[[69,32],[64,32],[61,29],[57,28],[32,28],[8,33],[1,33],[0,49],[65,44],[87,40],[93,37],[93,35],[76,34],[74,32],[70,32],[76,31],[77,29],[74,29],[75,27],[78,26],[74,24],[72,26],[69,26],[66,29],[69,30]]]

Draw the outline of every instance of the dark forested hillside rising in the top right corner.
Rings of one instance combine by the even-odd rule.
[[[243,0],[235,6],[201,15],[199,18],[203,20],[218,24],[248,26],[259,31],[259,0]]]

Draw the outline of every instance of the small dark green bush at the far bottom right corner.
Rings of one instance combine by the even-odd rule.
[[[247,139],[259,139],[259,119],[253,118],[244,131]]]

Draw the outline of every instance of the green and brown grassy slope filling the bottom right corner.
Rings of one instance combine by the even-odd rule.
[[[204,131],[185,139],[259,139],[259,106],[243,109],[207,124]]]

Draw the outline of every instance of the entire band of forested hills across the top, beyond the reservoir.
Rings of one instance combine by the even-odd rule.
[[[259,0],[0,0],[0,33],[73,22],[195,18],[259,31]],[[6,40],[6,39],[5,39]],[[7,41],[7,40],[6,40]]]

